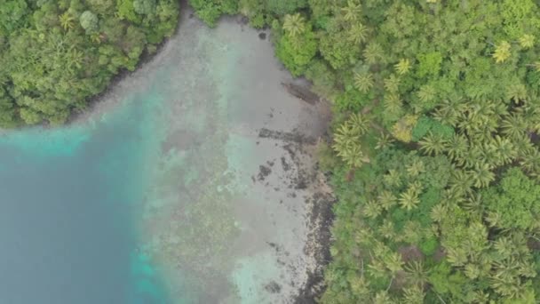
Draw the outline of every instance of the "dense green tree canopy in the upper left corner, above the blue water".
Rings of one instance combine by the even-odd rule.
[[[4,0],[0,127],[63,124],[174,32],[176,0]]]

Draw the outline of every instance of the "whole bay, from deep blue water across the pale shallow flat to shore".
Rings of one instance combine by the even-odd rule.
[[[313,162],[259,132],[316,139],[327,117],[289,77],[257,31],[186,12],[74,124],[4,134],[0,302],[292,302],[314,269]]]

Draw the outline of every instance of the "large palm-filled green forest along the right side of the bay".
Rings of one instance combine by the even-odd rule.
[[[238,1],[335,110],[323,303],[540,299],[538,5]]]

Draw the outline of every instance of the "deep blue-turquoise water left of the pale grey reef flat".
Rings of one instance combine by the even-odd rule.
[[[155,146],[145,108],[0,137],[0,302],[168,302],[135,233]]]

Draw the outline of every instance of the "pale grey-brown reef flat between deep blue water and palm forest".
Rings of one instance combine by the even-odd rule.
[[[330,109],[274,58],[269,32],[190,14],[76,122],[114,116],[126,96],[153,117],[141,135],[159,144],[142,165],[138,250],[171,299],[311,303],[329,259],[334,200],[314,146]]]

